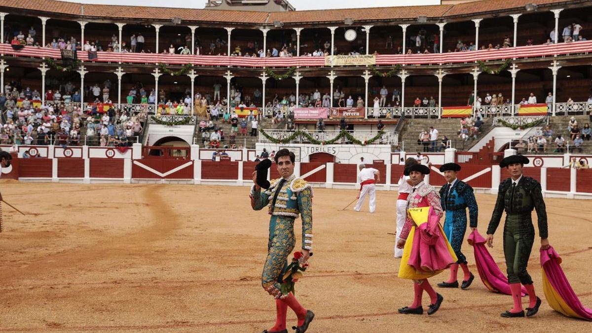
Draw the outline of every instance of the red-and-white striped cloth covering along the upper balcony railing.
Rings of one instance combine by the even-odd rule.
[[[533,58],[553,55],[570,55],[592,52],[592,41],[577,41],[574,43],[558,43],[551,45],[534,45],[508,47],[497,50],[477,50],[468,52],[413,54],[413,55],[378,55],[376,65],[392,66],[402,65],[429,65],[448,63],[467,63],[478,60],[504,60]],[[50,57],[60,59],[61,53],[58,49],[49,47],[25,46],[20,50],[14,50],[9,44],[0,44],[0,53],[11,56],[22,57]],[[324,57],[234,57],[234,56],[196,56],[196,55],[167,55],[156,53],[118,53],[118,52],[97,52],[97,58],[92,62],[111,63],[166,63],[169,65],[191,64],[195,66],[233,66],[233,67],[291,67],[311,66],[324,67]],[[79,59],[88,60],[86,52],[78,52]]]

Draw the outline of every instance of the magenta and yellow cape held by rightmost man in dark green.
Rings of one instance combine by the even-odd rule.
[[[561,257],[554,248],[540,249],[540,265],[543,267],[543,290],[549,306],[565,316],[592,321],[592,309],[584,308],[571,289],[570,281],[561,269]]]

